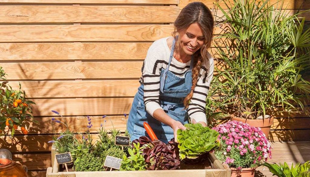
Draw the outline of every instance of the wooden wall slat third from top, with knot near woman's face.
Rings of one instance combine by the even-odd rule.
[[[0,42],[155,41],[172,24],[0,25]]]

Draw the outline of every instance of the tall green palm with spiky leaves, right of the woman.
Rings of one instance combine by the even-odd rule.
[[[281,12],[283,2],[279,9],[268,0],[224,3],[216,3],[224,15],[217,24],[223,33],[214,41],[220,67],[215,67],[219,74],[213,89],[221,91],[221,111],[249,119],[276,111],[309,114],[310,82],[303,77],[310,67],[310,28],[305,18]]]

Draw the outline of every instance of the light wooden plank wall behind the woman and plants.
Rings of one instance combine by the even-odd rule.
[[[86,130],[86,115],[92,118],[94,136],[102,115],[124,130],[123,113],[131,108],[148,47],[171,35],[179,11],[191,1],[0,0],[0,65],[9,84],[17,89],[20,82],[37,103],[33,113],[40,122],[29,135],[2,137],[1,148],[27,165],[30,176],[44,176],[51,166],[51,118],[60,119],[51,110],[60,112],[74,131]],[[203,2],[213,7],[214,0]],[[303,2],[285,3],[287,9],[309,9]],[[305,16],[310,20],[309,13]],[[272,140],[310,139],[310,117],[276,117]],[[108,121],[105,127],[112,125]],[[56,133],[62,130],[63,125],[55,126]]]

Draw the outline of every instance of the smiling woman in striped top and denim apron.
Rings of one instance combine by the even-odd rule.
[[[207,50],[213,16],[202,2],[192,2],[174,26],[173,37],[159,39],[148,49],[127,122],[131,141],[147,135],[143,122],[165,143],[173,137],[176,141],[177,130],[186,129],[188,118],[207,126],[206,96],[214,69]]]

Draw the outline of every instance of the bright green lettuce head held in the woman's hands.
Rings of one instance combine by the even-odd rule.
[[[199,155],[218,148],[220,143],[217,140],[219,132],[203,127],[200,123],[185,124],[186,130],[177,131],[179,142],[180,159],[196,159]]]

